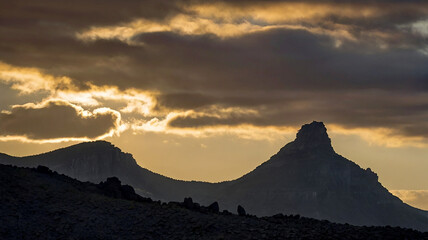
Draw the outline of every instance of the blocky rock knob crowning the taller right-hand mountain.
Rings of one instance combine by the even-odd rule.
[[[299,150],[323,149],[333,151],[331,139],[328,137],[327,128],[323,122],[313,121],[303,125],[296,135],[294,145]]]

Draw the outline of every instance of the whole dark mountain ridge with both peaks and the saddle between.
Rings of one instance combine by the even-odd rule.
[[[337,154],[322,122],[303,125],[285,145],[252,172],[222,183],[174,180],[138,166],[130,154],[108,142],[90,142],[29,156],[0,156],[0,163],[45,165],[82,181],[119,177],[143,196],[178,201],[191,196],[202,204],[238,204],[258,216],[301,214],[354,225],[391,225],[428,231],[428,212],[393,196],[370,169]]]

